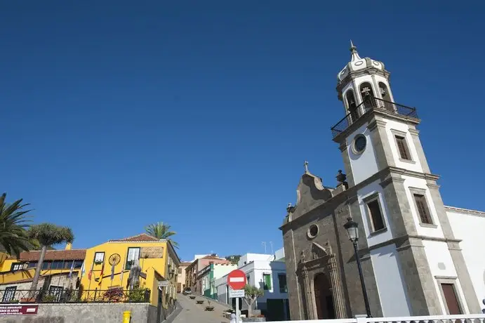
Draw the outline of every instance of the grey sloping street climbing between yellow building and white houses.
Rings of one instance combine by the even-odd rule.
[[[206,311],[207,298],[197,296],[192,300],[189,296],[178,294],[178,302],[182,306],[182,311],[173,319],[173,323],[227,323],[229,319],[222,317],[222,311],[227,307],[219,303],[211,302],[214,306],[213,311]],[[204,304],[197,304],[196,300],[204,300]]]

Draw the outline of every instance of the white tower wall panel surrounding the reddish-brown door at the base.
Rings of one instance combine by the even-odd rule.
[[[434,288],[439,296],[439,303],[441,304],[441,310],[443,314],[446,314],[445,301],[441,297],[440,287],[438,285],[437,279],[449,278],[455,280],[456,293],[458,298],[460,298],[460,303],[463,305],[463,310],[468,313],[467,304],[465,301],[465,296],[463,295],[463,290],[460,286],[460,280],[457,278],[455,265],[453,264],[453,259],[451,258],[450,251],[448,249],[448,244],[441,241],[423,240],[423,246],[425,247],[425,253],[427,262],[430,265],[431,275],[435,278],[433,279]]]

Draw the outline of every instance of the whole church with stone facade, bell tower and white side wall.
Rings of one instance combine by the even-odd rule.
[[[444,205],[418,111],[395,103],[383,62],[350,52],[336,88],[345,117],[331,127],[344,170],[328,187],[305,162],[280,227],[291,319],[481,313],[485,212]]]

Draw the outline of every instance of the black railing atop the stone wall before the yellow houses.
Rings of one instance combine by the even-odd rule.
[[[150,303],[150,289],[2,289],[0,303]]]

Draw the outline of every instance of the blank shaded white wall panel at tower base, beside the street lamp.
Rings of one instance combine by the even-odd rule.
[[[371,251],[380,305],[385,317],[411,315],[411,305],[398,257],[395,244],[388,244]]]

